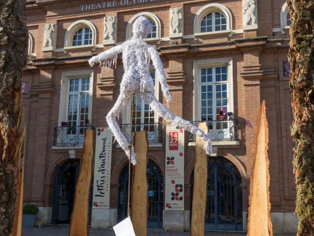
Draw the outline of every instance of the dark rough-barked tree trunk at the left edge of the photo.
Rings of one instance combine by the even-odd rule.
[[[0,236],[20,232],[24,123],[22,74],[27,62],[25,0],[0,1]]]

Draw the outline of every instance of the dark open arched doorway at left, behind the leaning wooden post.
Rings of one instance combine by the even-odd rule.
[[[75,186],[78,180],[79,159],[56,165],[52,202],[52,224],[69,224],[73,210]],[[90,191],[91,193],[91,191]],[[91,195],[90,195],[91,209]],[[89,213],[89,215],[91,215]]]

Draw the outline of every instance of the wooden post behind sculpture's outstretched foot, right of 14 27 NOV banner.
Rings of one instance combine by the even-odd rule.
[[[198,127],[208,132],[206,121]],[[193,203],[191,219],[191,236],[204,236],[204,224],[207,200],[208,160],[204,150],[204,141],[196,137],[196,157],[194,167]]]

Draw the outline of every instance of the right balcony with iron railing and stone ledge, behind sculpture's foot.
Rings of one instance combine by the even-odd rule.
[[[204,121],[191,121],[197,125]],[[221,148],[235,148],[239,146],[239,123],[237,119],[206,120],[208,134],[212,142],[213,156],[218,146]],[[195,136],[189,136],[190,148],[195,148]]]

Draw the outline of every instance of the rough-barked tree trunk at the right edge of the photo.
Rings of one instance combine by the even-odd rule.
[[[314,1],[287,0],[298,236],[314,235]]]

